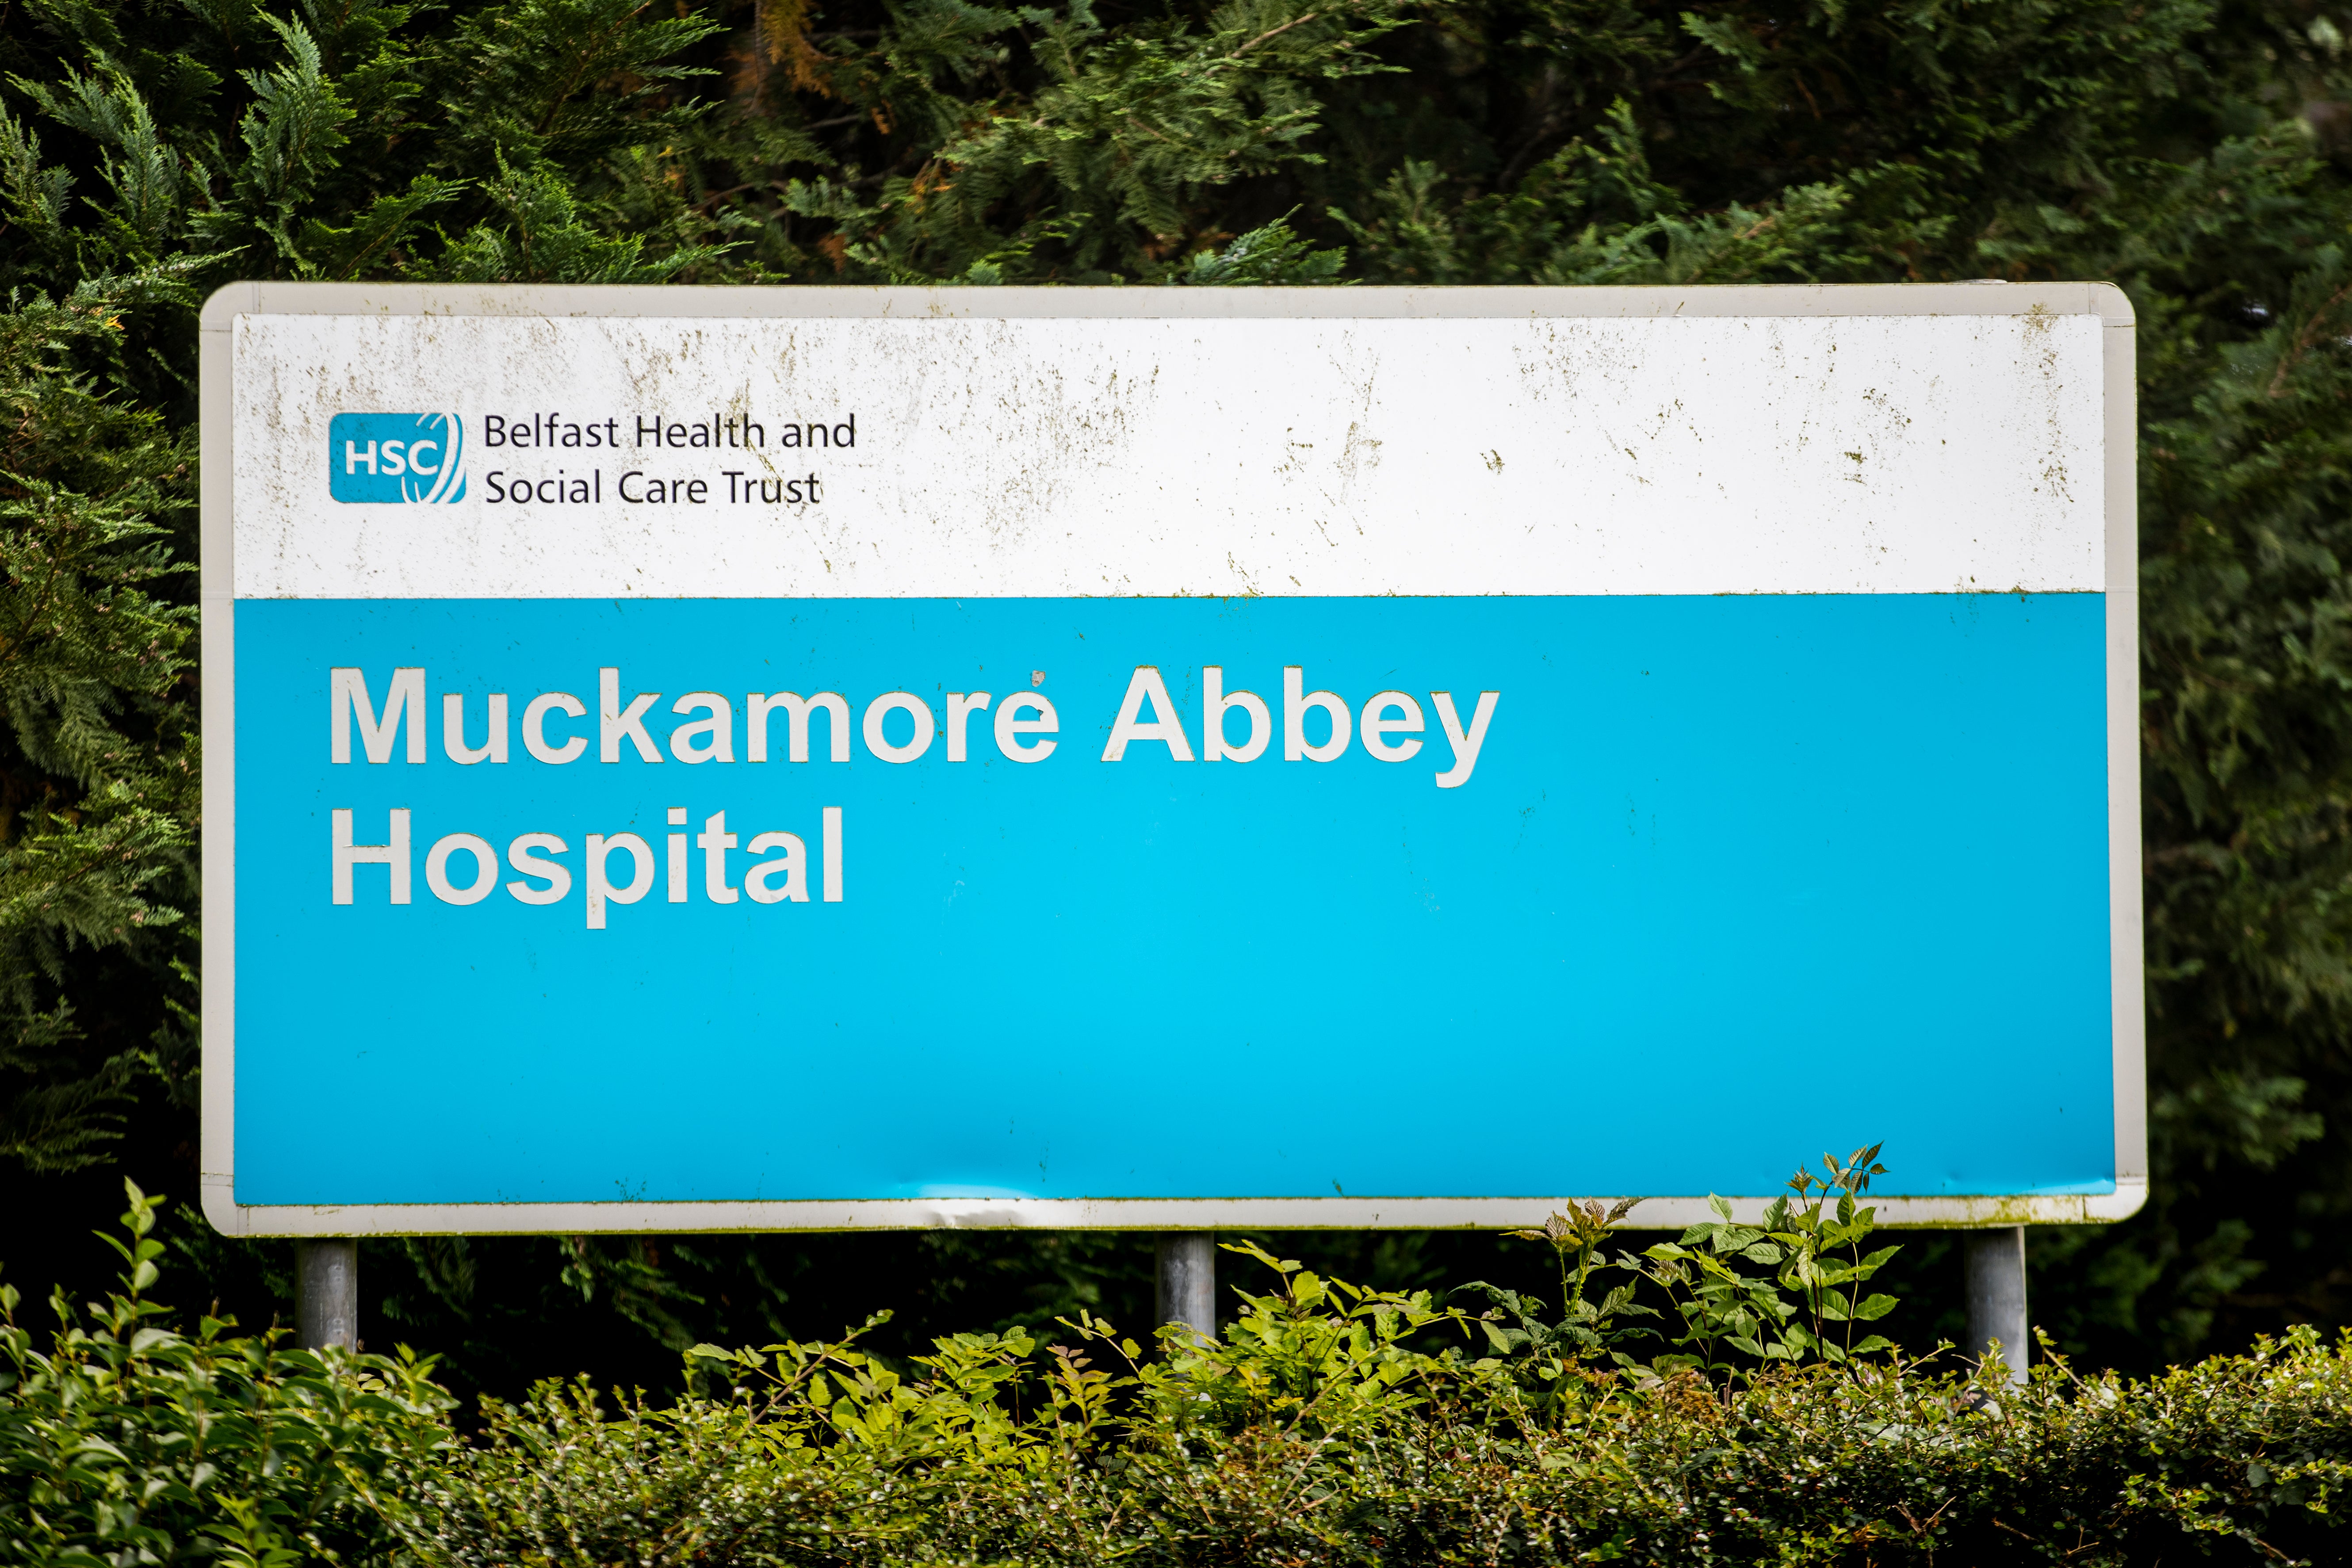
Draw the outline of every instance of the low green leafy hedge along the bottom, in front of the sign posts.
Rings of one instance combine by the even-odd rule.
[[[2352,1547],[2352,1342],[2312,1333],[2145,1380],[2046,1361],[2011,1387],[1898,1352],[1661,1378],[1258,1253],[1270,1288],[1237,1293],[1216,1345],[1169,1331],[1148,1352],[1082,1319],[1058,1345],[953,1335],[906,1368],[856,1335],[699,1347],[701,1392],[677,1403],[543,1385],[461,1434],[414,1359],[169,1328],[146,1300],[153,1213],[134,1192],[122,1291],[85,1312],[52,1298],[47,1347],[0,1291],[7,1561],[2279,1563]]]

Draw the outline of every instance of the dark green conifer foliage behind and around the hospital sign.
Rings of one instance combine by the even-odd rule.
[[[2112,1232],[2037,1232],[2037,1319],[2122,1366],[2352,1319],[2347,38],[2352,7],[2300,0],[12,0],[12,1272],[101,1274],[87,1232],[122,1171],[195,1197],[179,564],[193,310],[223,280],[2112,277],[2140,317],[2157,1197]],[[1491,1105],[1512,1138],[1606,1114],[1573,1084],[1486,1081],[1461,1044],[1399,1093]],[[887,1117],[891,1093],[816,1114]],[[282,1248],[181,1246],[247,1321],[285,1300]],[[1287,1251],[1381,1286],[1545,1284],[1541,1248],[1512,1265],[1482,1237]],[[906,1333],[1077,1305],[1141,1324],[1148,1258],[1122,1237],[386,1241],[365,1279],[372,1340],[517,1387],[666,1380],[691,1340],[884,1302]],[[1884,1279],[1915,1302],[1896,1338],[1955,1326],[1943,1239]]]

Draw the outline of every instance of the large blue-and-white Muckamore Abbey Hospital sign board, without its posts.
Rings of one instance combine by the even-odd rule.
[[[223,1229],[2145,1192],[2114,289],[202,329]]]

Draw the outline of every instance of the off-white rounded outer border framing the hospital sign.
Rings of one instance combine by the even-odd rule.
[[[2140,933],[2138,416],[2131,303],[2114,284],[1736,284],[1644,289],[851,289],[235,282],[200,317],[205,1218],[230,1237],[423,1237],[781,1229],[1505,1229],[1566,1197],[863,1199],[727,1204],[353,1204],[235,1201],[235,592],[230,334],[240,315],[635,315],[635,317],[1818,317],[2096,315],[2105,331],[2107,524],[2107,910],[2114,1039],[2114,1192],[1886,1197],[1884,1225],[2082,1225],[2147,1201],[2147,1009]],[[322,1114],[365,1107],[320,1107]],[[1592,1197],[1592,1194],[1576,1194]],[[1609,1199],[1604,1199],[1609,1201]],[[1771,1194],[1731,1197],[1755,1220]],[[1703,1194],[1646,1199],[1628,1225],[1712,1218]]]

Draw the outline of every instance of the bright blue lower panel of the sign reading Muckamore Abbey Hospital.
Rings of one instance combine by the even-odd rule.
[[[245,607],[240,961],[273,980],[238,1197],[1736,1192],[1863,1135],[1915,1192],[2112,1187],[2107,1056],[2070,1051],[2107,1032],[2100,611]],[[1150,733],[1105,762],[1138,670]],[[1204,759],[1209,670],[1249,762]],[[776,691],[840,705],[753,722]],[[1364,745],[1376,693],[1411,755]],[[1023,701],[1049,729],[1004,748]],[[2025,1110],[1950,1117],[1971,1074]]]

